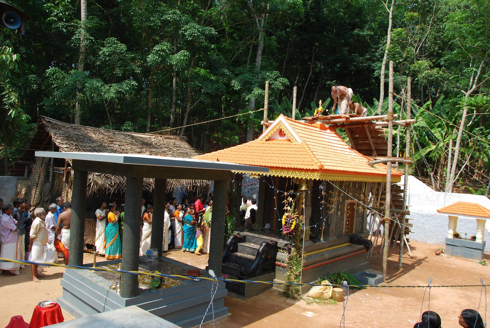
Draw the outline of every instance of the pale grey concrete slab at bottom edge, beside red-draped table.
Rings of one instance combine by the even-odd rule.
[[[49,327],[53,328],[140,328],[142,325],[151,328],[178,328],[138,306],[132,305],[117,310],[97,313],[67,322],[62,322]]]

